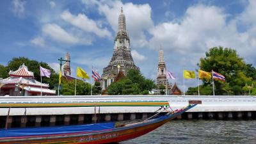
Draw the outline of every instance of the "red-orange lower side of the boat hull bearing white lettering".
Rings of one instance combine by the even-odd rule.
[[[174,117],[173,117],[174,118]],[[168,118],[166,120],[154,123],[141,125],[139,127],[127,127],[128,129],[120,128],[117,131],[100,131],[95,134],[62,134],[61,136],[47,136],[38,138],[13,138],[11,141],[1,142],[4,144],[10,143],[114,143],[125,140],[131,140],[133,138],[137,138],[142,136],[143,134],[147,134],[157,127],[165,124],[169,120],[173,118]]]

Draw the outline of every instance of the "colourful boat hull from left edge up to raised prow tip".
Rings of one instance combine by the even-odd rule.
[[[195,105],[194,105],[195,106]],[[166,122],[169,122],[178,115],[181,115],[188,109],[193,108],[189,106],[182,111],[173,113],[171,115],[160,116],[152,120],[145,122],[139,122],[136,124],[125,125],[124,127],[117,127],[113,129],[105,129],[93,132],[71,132],[71,133],[51,133],[42,134],[36,136],[14,136],[14,137],[0,137],[0,143],[29,143],[29,144],[44,144],[44,143],[115,143],[125,140],[131,140],[147,134],[157,127],[160,127]],[[6,130],[8,131],[8,130]]]

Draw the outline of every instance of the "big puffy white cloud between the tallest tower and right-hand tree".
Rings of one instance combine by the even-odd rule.
[[[163,48],[180,53],[203,52],[211,40],[216,42],[216,38],[227,31],[224,29],[226,17],[215,6],[191,6],[180,23],[164,22],[150,29],[150,46],[162,44]],[[217,40],[214,44],[220,42]]]

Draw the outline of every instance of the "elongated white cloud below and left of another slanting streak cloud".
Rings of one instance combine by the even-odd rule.
[[[45,24],[42,28],[44,35],[50,36],[53,40],[65,44],[92,44],[92,40],[82,39],[74,36],[65,29],[62,29],[58,24]]]

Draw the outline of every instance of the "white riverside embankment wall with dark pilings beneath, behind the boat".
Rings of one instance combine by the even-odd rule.
[[[201,100],[193,109],[178,119],[256,119],[256,97],[251,96],[171,96],[171,95],[100,95],[100,96],[23,96],[0,97],[0,104],[14,103],[79,103],[79,102],[143,102],[168,100],[173,110],[188,105],[189,100]],[[147,118],[159,109],[155,106],[129,107],[79,107],[79,108],[11,108],[10,125],[83,124],[98,121],[119,121]],[[0,121],[8,115],[8,108],[1,108]],[[95,112],[97,115],[95,115]],[[23,119],[22,119],[23,118]],[[23,121],[22,121],[23,120]]]

